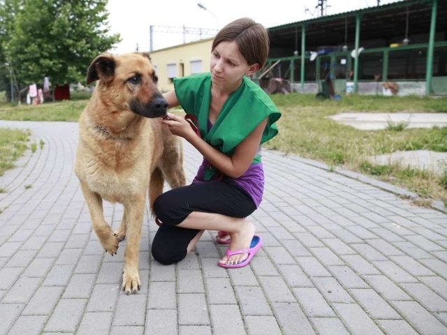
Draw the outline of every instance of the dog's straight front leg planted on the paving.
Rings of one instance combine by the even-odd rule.
[[[145,213],[146,196],[143,193],[124,204],[124,211],[128,219],[126,225],[127,245],[124,251],[124,270],[122,290],[129,295],[140,290],[140,275],[138,274],[138,258],[140,253],[140,239],[142,218]]]

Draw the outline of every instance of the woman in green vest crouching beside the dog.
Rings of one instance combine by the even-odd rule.
[[[277,107],[247,75],[268,57],[268,32],[249,18],[235,20],[214,38],[210,72],[176,78],[164,94],[169,107],[181,105],[196,120],[168,113],[170,131],[184,137],[203,155],[203,163],[189,186],[163,193],[154,202],[160,224],[152,255],[163,264],[182,260],[204,230],[228,234],[228,251],[221,267],[249,264],[261,237],[245,220],[259,206],[264,174],[260,146],[277,135]],[[196,129],[197,130],[197,129]]]

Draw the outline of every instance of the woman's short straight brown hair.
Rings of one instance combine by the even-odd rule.
[[[212,50],[223,41],[234,41],[249,65],[257,63],[262,68],[267,61],[268,31],[249,17],[242,17],[223,27],[213,40]]]

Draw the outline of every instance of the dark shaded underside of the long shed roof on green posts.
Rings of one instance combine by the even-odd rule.
[[[405,37],[407,13],[411,43],[424,43],[430,32],[432,1],[404,0],[270,27],[270,49],[295,50],[295,45],[298,45],[299,50],[303,25],[306,29],[307,50],[316,50],[321,45],[344,45],[345,36],[351,47],[354,43],[357,15],[360,15],[361,20],[360,40],[368,41],[368,47],[385,47],[402,41]],[[447,40],[446,0],[438,0],[436,30],[436,41]]]

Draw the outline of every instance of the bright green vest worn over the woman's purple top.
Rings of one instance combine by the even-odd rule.
[[[240,144],[258,124],[268,117],[261,144],[272,139],[278,133],[274,124],[281,113],[268,94],[244,77],[240,87],[223,104],[219,117],[208,131],[208,114],[211,103],[211,74],[200,73],[188,77],[175,78],[174,87],[177,100],[186,114],[198,119],[198,128],[203,140],[212,147],[231,156],[237,144]],[[258,154],[252,163],[261,162]],[[208,169],[207,169],[208,170]],[[211,171],[205,179],[212,177]]]

